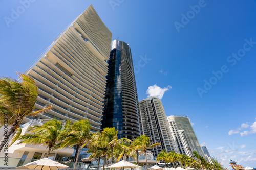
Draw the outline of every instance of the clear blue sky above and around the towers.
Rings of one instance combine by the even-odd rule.
[[[256,167],[256,1],[26,1],[0,1],[0,76],[17,78],[92,4],[131,47],[139,100],[152,86],[224,167]]]

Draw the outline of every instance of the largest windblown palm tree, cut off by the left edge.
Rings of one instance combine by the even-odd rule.
[[[39,94],[35,81],[30,76],[20,73],[18,75],[20,81],[7,77],[0,79],[0,127],[10,125],[9,130],[6,130],[0,142],[0,151],[24,117],[45,113],[52,108],[50,106],[33,111]]]

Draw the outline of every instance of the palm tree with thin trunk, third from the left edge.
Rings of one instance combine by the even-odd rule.
[[[63,141],[60,148],[63,147],[73,147],[77,145],[78,153],[76,156],[76,161],[74,165],[74,170],[76,169],[76,164],[78,161],[78,157],[80,151],[92,138],[92,132],[90,131],[91,124],[89,123],[88,119],[79,120],[78,122],[74,122],[71,126],[71,131],[67,135],[67,138]]]

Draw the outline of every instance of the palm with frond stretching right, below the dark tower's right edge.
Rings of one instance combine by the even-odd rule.
[[[138,140],[135,140],[136,141],[136,144],[138,146],[138,148],[141,149],[141,152],[140,152],[140,155],[141,153],[145,153],[146,155],[146,169],[148,169],[148,165],[147,165],[147,149],[148,148],[154,148],[158,145],[161,145],[160,143],[155,143],[155,144],[151,144],[150,143],[150,138],[149,137],[146,137],[146,135],[140,135],[139,137],[137,137]]]

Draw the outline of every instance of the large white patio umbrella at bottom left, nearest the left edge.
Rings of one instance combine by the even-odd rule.
[[[34,162],[27,163],[26,165],[23,166],[15,167],[14,169],[56,170],[63,168],[69,168],[69,166],[55,162],[48,158],[44,158]]]

